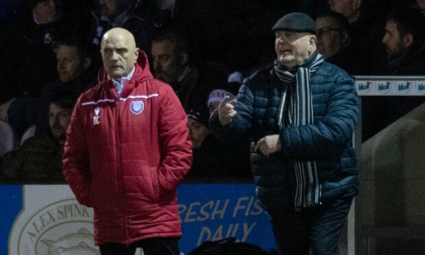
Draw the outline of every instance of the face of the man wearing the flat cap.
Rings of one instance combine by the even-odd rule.
[[[301,64],[316,50],[316,36],[309,33],[276,31],[275,50],[278,62],[292,67]]]

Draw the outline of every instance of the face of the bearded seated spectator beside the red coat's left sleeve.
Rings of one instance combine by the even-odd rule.
[[[50,104],[49,109],[49,126],[51,134],[54,138],[64,141],[66,138],[66,128],[68,128],[69,121],[71,120],[71,113],[73,109],[64,109]]]

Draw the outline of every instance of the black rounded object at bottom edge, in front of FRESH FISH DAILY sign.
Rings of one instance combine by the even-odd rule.
[[[258,245],[252,243],[236,243],[234,237],[221,239],[218,241],[205,241],[195,248],[188,255],[265,255],[267,252],[263,251]]]

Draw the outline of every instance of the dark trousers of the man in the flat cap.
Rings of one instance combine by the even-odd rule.
[[[339,254],[339,236],[347,219],[352,197],[300,212],[271,215],[280,254]]]

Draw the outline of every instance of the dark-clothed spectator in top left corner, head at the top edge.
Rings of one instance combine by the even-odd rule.
[[[38,97],[56,78],[51,42],[60,30],[60,8],[54,0],[31,2],[32,10],[8,21],[1,32],[0,104],[13,97]]]

